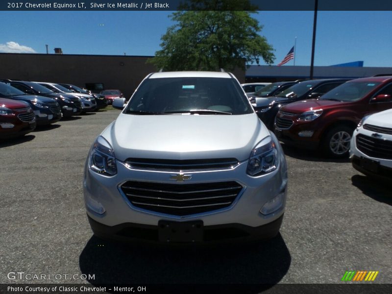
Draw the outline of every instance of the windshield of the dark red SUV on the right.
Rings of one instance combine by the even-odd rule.
[[[338,101],[357,101],[376,88],[379,82],[346,82],[325,93],[320,99]]]

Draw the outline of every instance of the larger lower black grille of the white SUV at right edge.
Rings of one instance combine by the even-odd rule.
[[[370,157],[392,159],[392,141],[359,134],[356,137],[356,143],[357,148]]]

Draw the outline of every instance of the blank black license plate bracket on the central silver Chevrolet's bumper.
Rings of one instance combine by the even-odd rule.
[[[200,242],[203,240],[203,221],[158,221],[160,242]]]

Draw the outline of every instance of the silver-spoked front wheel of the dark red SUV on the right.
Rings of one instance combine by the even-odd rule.
[[[338,125],[329,130],[322,143],[326,155],[334,158],[347,157],[353,131],[345,125]]]

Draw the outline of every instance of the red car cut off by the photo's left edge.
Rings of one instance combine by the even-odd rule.
[[[25,135],[35,126],[34,112],[27,103],[0,98],[0,139]]]

